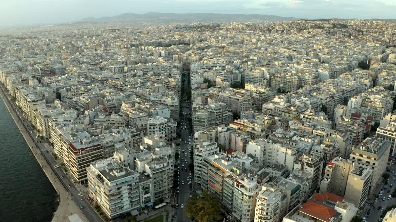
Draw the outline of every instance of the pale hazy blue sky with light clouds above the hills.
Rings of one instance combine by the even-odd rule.
[[[0,0],[0,6],[0,26],[67,23],[153,11],[396,19],[396,0]]]

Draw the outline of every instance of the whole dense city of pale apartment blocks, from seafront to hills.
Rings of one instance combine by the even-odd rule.
[[[396,221],[394,22],[74,23],[0,46],[55,221]]]

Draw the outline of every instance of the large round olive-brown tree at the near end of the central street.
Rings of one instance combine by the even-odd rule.
[[[191,198],[188,198],[185,206],[187,216],[193,217],[198,222],[207,222],[208,220],[219,220],[221,202],[217,196],[209,193],[208,190],[202,191],[203,198],[199,198],[194,192]]]

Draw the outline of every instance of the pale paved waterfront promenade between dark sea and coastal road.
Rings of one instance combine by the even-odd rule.
[[[69,195],[69,191],[65,189],[62,185],[61,181],[59,181],[58,177],[55,176],[53,172],[52,166],[44,159],[42,153],[39,148],[34,143],[32,137],[27,132],[26,128],[23,126],[23,122],[18,118],[18,114],[15,112],[13,107],[10,104],[10,101],[7,98],[7,95],[4,94],[4,86],[0,85],[0,96],[2,97],[4,103],[8,111],[11,114],[11,117],[15,121],[15,124],[19,128],[22,136],[24,137],[27,145],[30,147],[30,150],[34,154],[37,162],[40,164],[44,173],[47,175],[49,181],[59,194],[59,206],[55,214],[53,215],[52,222],[86,222],[88,221],[84,214],[80,211],[79,207],[72,201]],[[56,164],[56,163],[55,163]],[[88,207],[88,206],[87,206]]]

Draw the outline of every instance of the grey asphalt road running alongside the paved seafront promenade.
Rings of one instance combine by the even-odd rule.
[[[2,88],[4,89],[3,86],[2,86]],[[6,92],[5,89],[4,89],[4,92]],[[23,115],[21,115],[22,112],[17,108],[15,103],[8,96],[8,94],[7,94],[7,97],[8,97],[8,100],[10,101],[13,109],[15,110],[15,112],[17,114],[19,113],[18,114],[19,119],[23,122],[25,127],[28,129],[30,137],[32,137],[33,141],[39,141],[40,139],[36,138],[36,132],[34,132],[30,123],[27,122],[27,120],[25,119],[25,117]],[[74,201],[74,203],[76,203],[76,205],[78,207],[80,207],[80,205],[84,206],[83,209],[80,208],[80,211],[84,214],[84,216],[88,219],[88,221],[90,221],[90,222],[103,221],[102,218],[100,218],[100,216],[95,212],[95,210],[89,205],[89,203],[86,201],[86,199],[84,199],[78,195],[80,192],[77,190],[76,186],[74,186],[74,184],[69,180],[69,177],[67,177],[65,172],[61,168],[54,168],[54,165],[56,165],[56,161],[51,154],[52,151],[46,152],[46,147],[44,146],[43,143],[36,143],[36,148],[38,148],[41,151],[41,154],[44,155],[44,157],[49,162],[51,162],[50,164],[52,164],[51,167],[53,169],[53,172],[57,174],[58,179],[60,179],[61,182],[64,184],[64,186],[66,186],[66,190],[70,191],[69,198],[71,198]],[[64,178],[62,178],[62,176]],[[68,184],[70,184],[71,187],[69,187]],[[83,218],[81,218],[81,219],[83,219]]]

